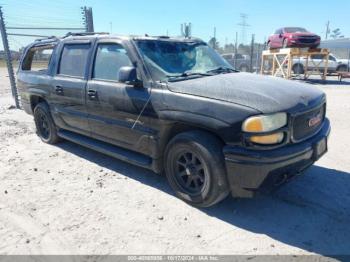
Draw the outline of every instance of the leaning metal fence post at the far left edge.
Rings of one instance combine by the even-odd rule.
[[[9,78],[10,78],[12,97],[15,99],[16,107],[20,108],[17,87],[16,87],[16,79],[15,79],[15,74],[13,72],[11,51],[10,51],[9,42],[7,39],[7,32],[6,32],[5,21],[4,21],[1,6],[0,6],[0,31],[1,31],[2,43],[4,45],[5,58],[6,58],[6,63],[7,63],[7,71],[8,71]]]

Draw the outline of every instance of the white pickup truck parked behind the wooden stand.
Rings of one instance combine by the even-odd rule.
[[[324,55],[312,55],[308,61],[308,69],[319,69],[323,71],[326,67],[326,60]],[[306,67],[306,57],[294,58],[292,71],[294,74],[304,74]],[[338,59],[333,54],[328,58],[328,73],[345,72],[349,68],[349,59]]]

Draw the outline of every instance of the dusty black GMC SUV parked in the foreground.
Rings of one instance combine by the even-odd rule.
[[[327,151],[323,92],[240,73],[195,38],[70,34],[37,40],[17,75],[40,138],[70,140],[157,173],[211,206],[252,197]]]

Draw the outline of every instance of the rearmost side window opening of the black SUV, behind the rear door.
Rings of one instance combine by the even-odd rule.
[[[32,47],[23,59],[21,69],[46,73],[49,67],[54,46]]]

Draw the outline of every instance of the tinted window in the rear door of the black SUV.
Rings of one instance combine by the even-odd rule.
[[[66,44],[63,47],[58,74],[84,77],[90,44]]]

